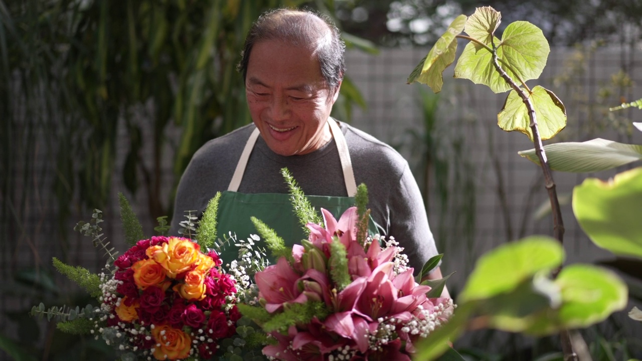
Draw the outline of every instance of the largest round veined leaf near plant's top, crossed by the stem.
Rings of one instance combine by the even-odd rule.
[[[492,42],[497,48],[499,65],[514,82],[520,84],[520,80],[526,82],[539,78],[550,48],[537,26],[526,21],[513,22],[507,26],[502,40],[494,37]],[[490,42],[485,46],[492,48]],[[470,42],[464,48],[455,66],[455,78],[487,85],[496,93],[511,89],[493,66],[492,53],[476,42]]]

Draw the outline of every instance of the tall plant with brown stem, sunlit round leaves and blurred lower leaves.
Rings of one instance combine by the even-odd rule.
[[[470,17],[456,17],[410,74],[408,83],[421,82],[441,91],[442,72],[455,61],[457,39],[469,41],[455,66],[455,78],[487,85],[496,93],[510,91],[498,114],[498,125],[526,134],[535,145],[529,151],[530,159],[541,166],[544,175],[555,240],[532,236],[482,256],[458,297],[451,321],[418,347],[419,360],[435,359],[448,348],[446,340],[482,328],[536,336],[559,333],[564,360],[578,360],[584,341],[571,336],[569,330],[602,322],[622,310],[628,300],[627,285],[614,272],[584,264],[562,267],[564,224],[549,166],[554,155],[542,140],[566,127],[566,108],[552,91],[526,85],[539,78],[546,65],[549,48],[542,31],[529,22],[516,21],[508,24],[499,39],[495,31],[500,21],[499,12],[488,6],[477,8]],[[461,35],[463,31],[467,35]],[[559,157],[562,154],[568,152],[559,152]],[[586,151],[577,154],[586,155]]]

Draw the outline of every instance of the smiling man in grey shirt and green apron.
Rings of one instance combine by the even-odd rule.
[[[317,208],[340,216],[365,183],[370,232],[394,236],[421,270],[437,254],[421,193],[408,163],[393,148],[330,117],[345,62],[345,44],[322,15],[279,9],[262,15],[245,40],[239,70],[253,124],[205,144],[178,185],[172,233],[184,211],[204,211],[221,191],[218,234],[256,233],[250,216],[288,245],[304,237],[281,168],[288,168]],[[221,255],[236,258],[236,247]],[[429,278],[440,278],[436,269]]]

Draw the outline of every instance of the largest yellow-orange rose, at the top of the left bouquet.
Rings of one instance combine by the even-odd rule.
[[[146,254],[167,270],[168,277],[176,278],[195,265],[201,252],[197,243],[186,238],[171,237],[168,243],[149,247]]]

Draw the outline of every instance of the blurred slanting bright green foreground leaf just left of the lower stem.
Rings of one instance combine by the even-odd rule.
[[[530,236],[484,254],[471,273],[459,302],[489,299],[510,292],[541,271],[562,264],[564,249],[547,236]]]

